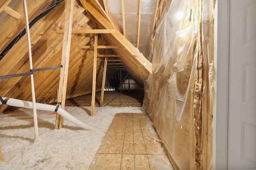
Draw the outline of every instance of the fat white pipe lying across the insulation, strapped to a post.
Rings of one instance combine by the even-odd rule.
[[[15,106],[15,107],[24,107],[24,108],[33,108],[33,103],[28,102],[25,100],[18,100],[18,99],[13,99],[13,98],[2,98],[3,100],[7,100],[6,104],[9,106]],[[0,102],[2,104],[2,102]],[[42,104],[42,103],[36,103],[36,109],[38,110],[45,110],[45,111],[55,111],[56,106],[55,105],[50,105],[50,104]],[[72,123],[76,124],[79,127],[82,127],[83,129],[93,131],[93,130],[101,130],[105,131],[105,129],[102,129],[100,127],[94,127],[91,125],[87,125],[86,123],[76,119],[76,117],[72,116],[70,113],[62,109],[61,107],[58,108],[57,113],[62,115],[64,118],[70,120]]]

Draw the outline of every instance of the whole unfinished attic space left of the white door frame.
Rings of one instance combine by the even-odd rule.
[[[0,169],[212,169],[214,3],[0,0]]]

